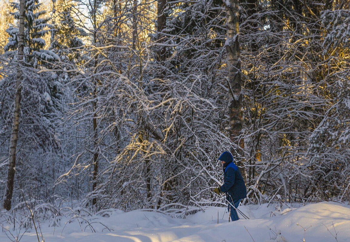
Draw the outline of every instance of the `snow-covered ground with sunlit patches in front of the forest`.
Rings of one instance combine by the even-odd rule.
[[[45,242],[350,242],[349,205],[322,202],[281,209],[265,204],[239,206],[239,210],[250,219],[228,222],[224,207],[207,207],[186,219],[160,212],[108,210],[90,217],[48,219],[40,229]],[[1,242],[24,231],[2,226]],[[35,229],[27,230],[20,241],[38,241]]]

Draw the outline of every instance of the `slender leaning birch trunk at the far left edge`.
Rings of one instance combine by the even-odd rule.
[[[16,93],[15,93],[15,105],[13,110],[13,123],[10,139],[10,154],[8,161],[8,173],[7,173],[7,187],[4,198],[3,207],[6,210],[11,209],[13,183],[15,176],[16,165],[16,148],[17,148],[17,136],[20,119],[20,103],[21,103],[21,79],[22,79],[22,67],[23,67],[23,48],[24,48],[24,22],[25,22],[25,7],[26,0],[20,0],[20,18],[19,18],[19,33],[18,33],[18,64],[16,75]]]

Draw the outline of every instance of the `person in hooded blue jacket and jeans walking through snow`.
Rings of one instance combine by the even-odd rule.
[[[247,196],[247,189],[238,167],[233,163],[232,154],[225,151],[218,159],[221,161],[224,170],[224,184],[220,187],[214,188],[214,192],[218,195],[223,192],[229,201],[228,210],[231,212],[232,221],[238,220],[236,207],[238,207],[241,199]],[[235,207],[232,207],[232,205]]]

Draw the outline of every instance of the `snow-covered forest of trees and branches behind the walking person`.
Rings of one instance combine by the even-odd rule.
[[[244,203],[349,203],[349,1],[239,2],[243,142],[229,130],[229,1],[24,2],[21,60],[19,3],[0,4],[4,194],[21,71],[13,209],[186,216],[223,203],[225,150]]]

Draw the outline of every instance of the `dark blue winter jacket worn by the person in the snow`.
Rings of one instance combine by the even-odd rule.
[[[235,163],[229,162],[224,166],[224,184],[220,187],[220,190],[221,192],[227,192],[226,196],[231,196],[233,201],[247,196],[243,177]]]

